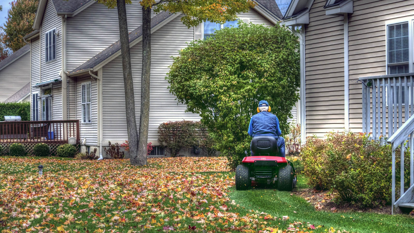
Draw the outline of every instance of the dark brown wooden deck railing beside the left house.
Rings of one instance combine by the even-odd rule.
[[[1,121],[0,142],[79,143],[79,120],[65,121]]]

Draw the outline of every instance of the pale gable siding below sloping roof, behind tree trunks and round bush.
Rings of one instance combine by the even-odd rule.
[[[238,16],[249,17],[250,22],[272,25],[254,10],[239,14]],[[159,124],[166,121],[180,121],[183,119],[200,120],[198,114],[185,112],[186,106],[177,103],[175,100],[176,97],[169,93],[167,88],[168,81],[165,80],[166,73],[169,71],[168,66],[173,63],[171,56],[178,56],[178,51],[187,46],[186,42],[194,39],[194,29],[188,29],[180,19],[181,16],[176,17],[152,34],[148,141],[152,141],[154,145],[158,144]],[[131,48],[137,126],[140,120],[141,58],[142,43],[140,42]],[[104,109],[103,141],[124,141],[128,138],[128,133],[125,118],[125,91],[120,56],[103,66],[102,88],[102,104]]]

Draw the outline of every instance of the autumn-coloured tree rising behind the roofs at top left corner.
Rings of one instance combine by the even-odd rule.
[[[25,43],[23,37],[33,29],[34,17],[36,15],[39,0],[15,0],[10,2],[6,22],[1,29],[1,42],[13,52],[22,48]]]

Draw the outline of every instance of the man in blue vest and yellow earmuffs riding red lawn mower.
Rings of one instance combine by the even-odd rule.
[[[259,102],[258,114],[250,119],[248,134],[251,156],[244,157],[236,167],[236,189],[246,190],[253,185],[273,184],[277,189],[291,191],[296,187],[293,165],[285,158],[285,142],[280,135],[279,119],[270,113],[265,100]]]

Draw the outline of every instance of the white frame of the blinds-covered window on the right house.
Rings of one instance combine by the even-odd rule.
[[[390,68],[388,66],[388,26],[396,25],[396,24],[402,24],[402,23],[408,23],[408,70],[409,73],[413,73],[414,71],[414,42],[413,42],[413,32],[414,32],[414,17],[404,17],[400,19],[390,20],[385,22],[385,68],[387,74],[390,74]],[[398,63],[392,64],[396,65]],[[402,63],[403,64],[403,63]],[[404,62],[405,64],[405,62]]]

